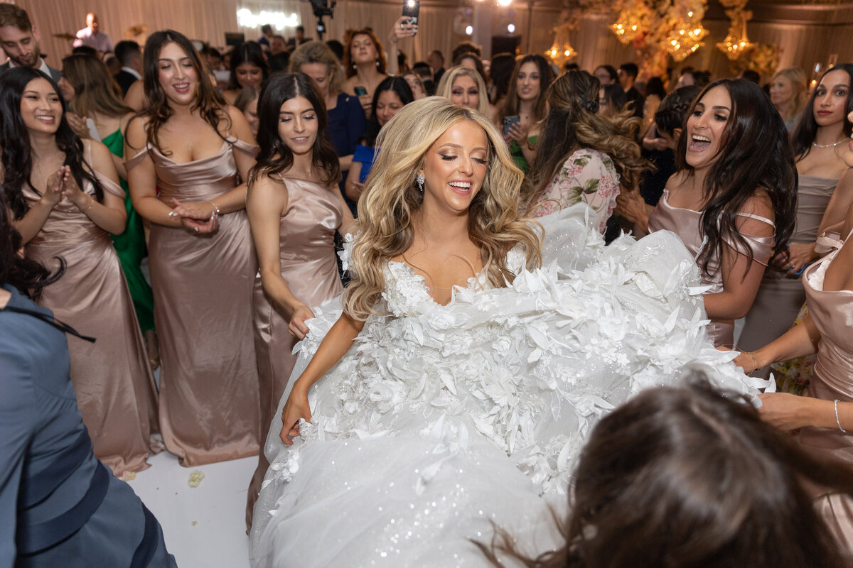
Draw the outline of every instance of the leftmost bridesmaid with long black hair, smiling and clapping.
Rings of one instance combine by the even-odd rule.
[[[96,336],[94,344],[68,338],[71,378],[95,455],[121,475],[148,468],[148,454],[161,449],[151,438],[154,377],[108,234],[125,229],[125,192],[110,152],[80,141],[64,108],[59,87],[31,67],[0,77],[3,198],[26,255],[47,267],[67,266],[40,302]]]

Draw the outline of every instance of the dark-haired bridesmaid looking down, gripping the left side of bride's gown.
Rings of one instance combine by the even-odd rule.
[[[296,363],[293,347],[305,337],[305,320],[343,290],[334,256],[334,232],[345,234],[350,209],[337,189],[340,167],[326,134],[326,106],[302,73],[270,78],[258,101],[258,164],[252,168],[247,211],[258,250],[255,350],[260,378],[263,445]],[[270,463],[264,452],[249,485],[247,525]]]

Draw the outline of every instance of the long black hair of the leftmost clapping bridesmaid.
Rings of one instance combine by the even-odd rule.
[[[15,219],[26,215],[29,205],[26,204],[23,188],[30,186],[32,191],[41,195],[41,191],[32,184],[32,147],[30,146],[30,133],[24,125],[24,119],[20,116],[20,99],[26,89],[26,85],[34,79],[44,79],[50,83],[56,96],[59,98],[62,108],[65,108],[65,99],[53,79],[32,67],[15,67],[0,76],[0,147],[3,148],[3,198],[12,210]],[[63,110],[59,128],[56,129],[56,147],[65,153],[63,165],[71,166],[71,174],[74,181],[81,188],[85,181],[89,181],[95,188],[95,196],[98,202],[103,199],[104,191],[101,182],[97,180],[95,171],[91,168],[83,155],[83,142],[74,134],[65,117]],[[39,186],[44,181],[39,182]]]

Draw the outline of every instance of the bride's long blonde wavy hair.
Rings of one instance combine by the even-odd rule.
[[[382,151],[358,200],[356,232],[360,234],[352,247],[351,280],[344,291],[344,309],[352,318],[364,320],[380,313],[375,306],[386,287],[384,268],[387,261],[409,250],[413,216],[423,204],[415,176],[435,141],[463,120],[477,124],[489,141],[485,180],[468,209],[468,234],[479,244],[486,280],[497,288],[513,282],[515,274],[506,265],[506,255],[516,244],[525,251],[528,269],[542,264],[541,234],[535,224],[519,217],[523,175],[500,133],[485,116],[442,97],[415,100],[380,131],[376,145]]]

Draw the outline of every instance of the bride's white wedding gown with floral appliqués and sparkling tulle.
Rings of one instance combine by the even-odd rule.
[[[576,205],[543,218],[543,269],[507,288],[472,278],[447,306],[402,263],[382,309],[310,389],[293,446],[265,445],[253,566],[485,566],[472,540],[500,526],[519,548],[560,545],[572,468],[595,421],[686,364],[756,393],[705,336],[696,263],[670,232],[605,247]],[[595,217],[592,217],[595,219]],[[340,314],[314,310],[291,384]],[[282,398],[279,409],[287,399]],[[550,508],[549,508],[550,506]]]

